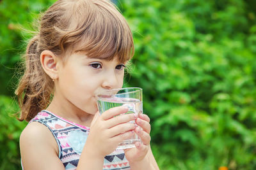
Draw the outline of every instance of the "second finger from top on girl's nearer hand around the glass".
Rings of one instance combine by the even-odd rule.
[[[113,118],[109,118],[109,120],[106,120],[106,126],[108,128],[111,128],[115,125],[118,125],[118,124],[124,124],[126,122],[130,122],[130,121],[134,121],[136,118],[136,115],[134,114],[123,114],[123,115],[118,115],[116,117],[113,117]],[[131,123],[132,124],[132,123]]]

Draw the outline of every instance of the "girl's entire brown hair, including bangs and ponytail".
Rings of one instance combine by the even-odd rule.
[[[111,2],[60,0],[52,4],[42,15],[40,29],[24,55],[26,69],[15,91],[20,121],[31,120],[51,102],[54,83],[40,64],[44,50],[58,57],[80,51],[107,60],[118,56],[125,62],[134,54],[134,45],[125,18]]]

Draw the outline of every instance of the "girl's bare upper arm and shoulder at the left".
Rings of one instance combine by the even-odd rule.
[[[58,158],[56,140],[38,122],[31,122],[20,134],[20,155],[24,170],[65,170]]]

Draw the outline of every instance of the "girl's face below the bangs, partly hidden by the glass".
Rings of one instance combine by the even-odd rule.
[[[124,67],[125,63],[119,63],[116,57],[108,61],[88,58],[81,52],[73,53],[64,65],[58,65],[56,95],[75,109],[95,114],[98,110],[96,94],[121,88]]]

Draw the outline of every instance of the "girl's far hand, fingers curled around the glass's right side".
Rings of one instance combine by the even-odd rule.
[[[136,118],[136,124],[140,127],[136,127],[135,132],[140,136],[141,142],[136,142],[136,148],[129,148],[125,150],[125,157],[129,161],[129,164],[136,164],[145,158],[150,148],[150,118],[145,114],[140,114]]]

